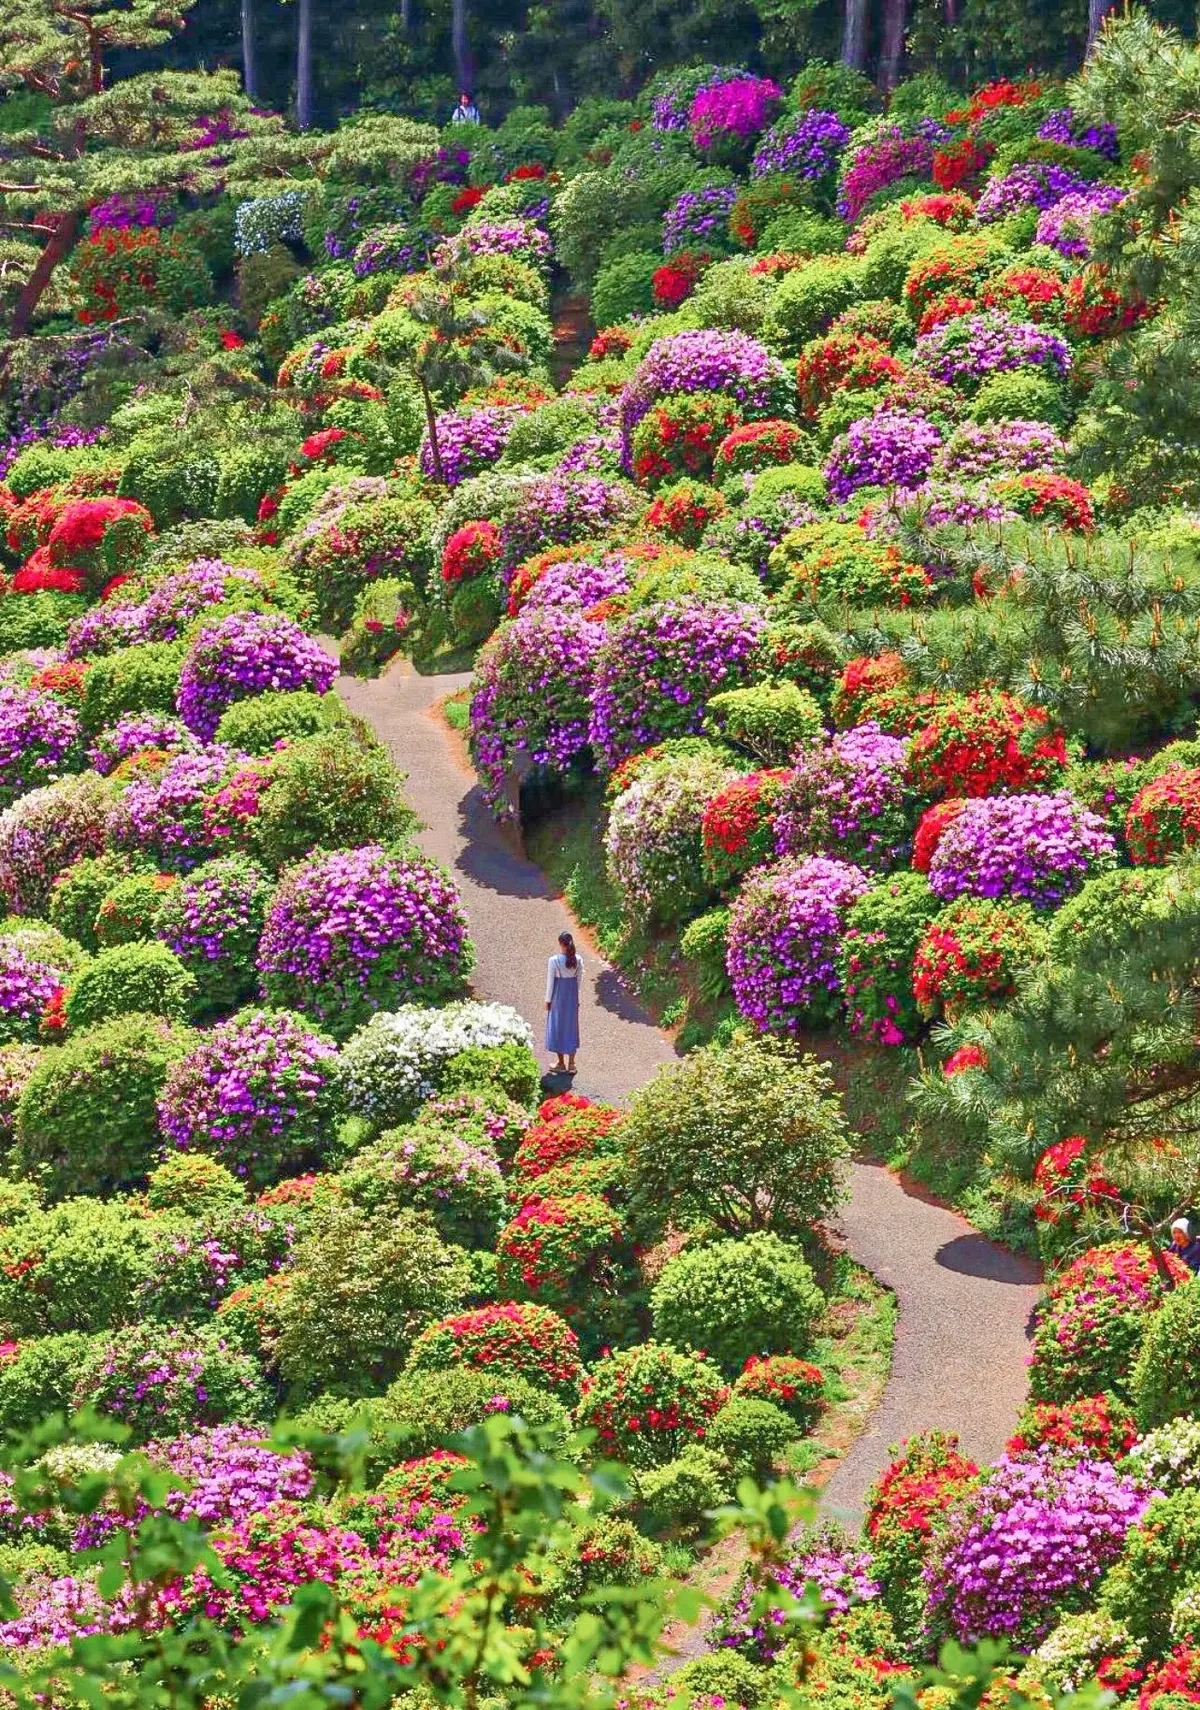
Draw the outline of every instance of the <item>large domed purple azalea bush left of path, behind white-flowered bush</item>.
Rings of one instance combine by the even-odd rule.
[[[376,1009],[456,997],[475,961],[448,874],[378,843],[316,852],[279,884],[258,944],[268,1004],[345,1038]]]

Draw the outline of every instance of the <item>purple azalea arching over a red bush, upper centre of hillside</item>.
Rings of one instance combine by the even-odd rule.
[[[668,392],[723,392],[742,414],[786,414],[795,393],[778,357],[745,332],[704,328],[655,339],[621,393],[621,457],[631,467],[632,431]]]

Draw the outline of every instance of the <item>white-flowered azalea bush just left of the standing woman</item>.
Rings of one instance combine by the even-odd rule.
[[[463,1000],[444,1009],[405,1004],[381,1011],[342,1052],[338,1079],[347,1110],[388,1129],[409,1122],[438,1091],[439,1070],[474,1045],[533,1045],[523,1016],[508,1004]]]

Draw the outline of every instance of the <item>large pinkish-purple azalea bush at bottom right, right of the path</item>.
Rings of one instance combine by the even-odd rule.
[[[1149,1500],[1108,1460],[1000,1460],[945,1517],[925,1568],[932,1621],[966,1643],[1034,1645],[1084,1606]]]

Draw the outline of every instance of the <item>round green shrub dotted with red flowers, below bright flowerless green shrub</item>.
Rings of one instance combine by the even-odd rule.
[[[576,1423],[597,1433],[602,1454],[631,1467],[656,1467],[689,1443],[703,1443],[726,1397],[704,1354],[643,1342],[597,1359],[583,1380]]]

